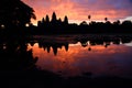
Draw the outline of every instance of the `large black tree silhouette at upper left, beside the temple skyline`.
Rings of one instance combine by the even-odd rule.
[[[25,28],[36,19],[34,10],[21,0],[0,1],[0,36],[25,35]]]

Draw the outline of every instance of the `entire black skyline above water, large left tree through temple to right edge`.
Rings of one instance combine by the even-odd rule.
[[[119,20],[111,23],[108,18],[106,22],[82,21],[80,24],[69,23],[65,15],[64,20],[57,19],[55,12],[52,19],[46,15],[34,26],[31,19],[36,19],[34,10],[21,0],[1,0],[0,3],[0,36],[7,34],[85,34],[85,33],[132,33],[132,21]]]

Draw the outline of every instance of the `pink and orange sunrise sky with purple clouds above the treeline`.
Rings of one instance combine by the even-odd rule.
[[[132,20],[132,0],[22,0],[35,11],[41,20],[46,14],[56,12],[57,19],[68,16],[69,22],[79,23],[88,21],[88,14],[92,21]],[[36,21],[32,21],[36,24]]]

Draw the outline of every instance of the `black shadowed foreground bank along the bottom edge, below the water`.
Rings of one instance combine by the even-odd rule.
[[[0,72],[0,86],[4,88],[131,88],[132,79],[97,77],[90,75],[63,78],[45,70]]]

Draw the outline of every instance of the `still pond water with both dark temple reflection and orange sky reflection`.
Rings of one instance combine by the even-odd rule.
[[[132,78],[131,35],[32,36],[28,50],[36,66],[64,77],[120,76]]]

